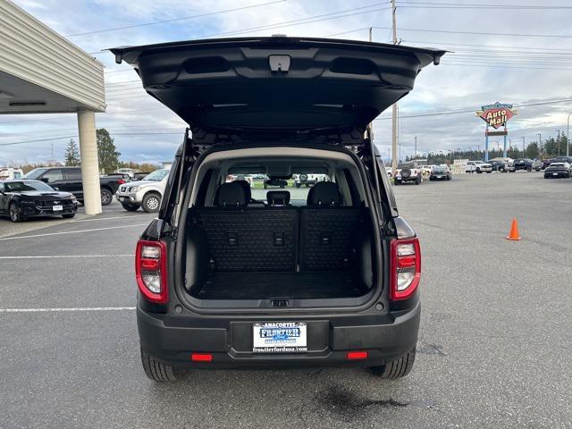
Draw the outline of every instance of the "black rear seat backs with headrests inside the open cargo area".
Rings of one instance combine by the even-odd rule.
[[[193,222],[205,232],[211,271],[217,272],[292,272],[298,263],[301,271],[341,271],[364,217],[361,207],[339,206],[332,182],[311,189],[302,208],[248,207],[234,182],[221,185],[214,202],[196,208]]]

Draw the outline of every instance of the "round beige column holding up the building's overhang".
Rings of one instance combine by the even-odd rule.
[[[96,114],[91,110],[78,110],[80,131],[81,181],[83,205],[86,214],[101,213],[99,189],[99,161],[97,160]]]

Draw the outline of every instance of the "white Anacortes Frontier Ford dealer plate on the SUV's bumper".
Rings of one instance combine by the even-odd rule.
[[[307,351],[305,322],[266,322],[252,326],[254,353],[299,353]]]

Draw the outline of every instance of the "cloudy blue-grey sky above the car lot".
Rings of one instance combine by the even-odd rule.
[[[16,0],[15,3],[105,64],[107,112],[97,114],[97,127],[111,132],[124,161],[171,159],[181,142],[185,124],[147,96],[135,71],[125,63],[115,64],[113,55],[100,53],[102,49],[223,37],[222,33],[227,33],[226,37],[280,33],[366,40],[369,27],[374,28],[375,42],[391,42],[389,3],[375,0]],[[397,0],[397,4],[398,38],[403,45],[454,51],[445,55],[439,66],[427,66],[417,78],[416,88],[400,102],[402,157],[413,154],[415,136],[419,152],[477,146],[483,149],[484,122],[474,113],[481,105],[495,101],[528,105],[572,98],[572,2],[569,0]],[[495,7],[490,6],[494,4]],[[503,7],[498,7],[499,4]],[[216,13],[248,5],[253,7]],[[206,13],[211,14],[180,19]],[[173,19],[180,20],[153,24]],[[151,25],[116,29],[145,23]],[[114,30],[94,32],[106,29]],[[79,34],[86,32],[89,34]],[[539,132],[546,137],[555,136],[558,130],[566,132],[572,103],[521,106],[517,110],[519,114],[509,122],[509,139],[513,146],[518,143],[522,147],[523,137],[528,142],[537,139]],[[383,154],[391,147],[390,111],[374,122],[375,142]],[[418,116],[450,111],[469,112]],[[164,134],[120,135],[138,130]],[[54,141],[55,157],[60,160],[69,136],[75,134],[77,122],[72,114],[0,117],[2,143],[62,136],[63,139]],[[50,142],[4,146],[0,149],[0,165],[46,161],[51,158],[51,150]]]

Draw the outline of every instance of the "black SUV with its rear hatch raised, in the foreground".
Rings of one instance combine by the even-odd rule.
[[[147,376],[332,365],[408,374],[419,241],[365,130],[444,52],[285,37],[112,52],[192,130],[136,249]],[[291,191],[228,181],[319,171],[329,180]]]

